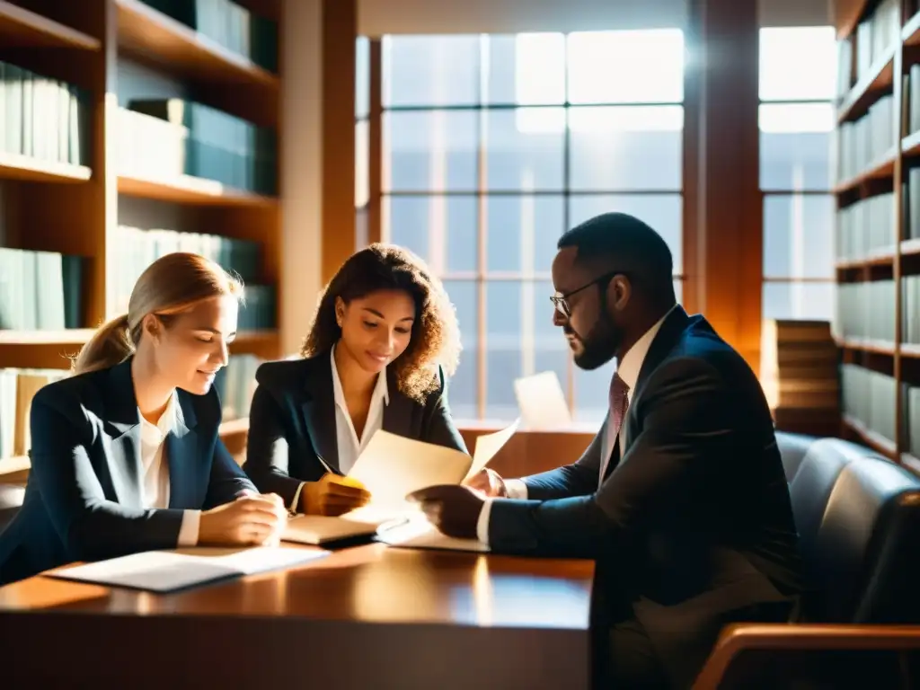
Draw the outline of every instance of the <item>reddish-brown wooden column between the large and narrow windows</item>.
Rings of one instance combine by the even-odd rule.
[[[691,0],[686,34],[685,302],[760,366],[757,4]]]

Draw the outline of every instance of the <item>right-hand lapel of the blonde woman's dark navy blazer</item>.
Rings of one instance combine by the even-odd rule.
[[[201,463],[199,433],[196,431],[198,417],[193,398],[180,390],[176,391],[176,396],[176,423],[167,433],[165,449],[169,464],[169,507],[193,509],[203,502],[202,478],[207,477],[200,475],[202,469],[210,471],[210,465]]]

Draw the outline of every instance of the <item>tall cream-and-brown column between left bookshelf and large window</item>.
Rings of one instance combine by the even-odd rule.
[[[316,297],[354,250],[356,0],[282,6],[281,350],[300,347]]]

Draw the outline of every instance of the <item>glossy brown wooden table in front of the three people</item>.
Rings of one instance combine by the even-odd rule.
[[[0,685],[587,688],[591,561],[357,546],[168,595],[0,589]]]

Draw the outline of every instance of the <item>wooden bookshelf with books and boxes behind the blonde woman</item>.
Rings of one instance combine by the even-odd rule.
[[[141,263],[189,242],[247,282],[231,348],[250,360],[240,369],[282,355],[280,19],[281,0],[0,0],[0,132],[21,132],[0,134],[0,273],[34,256],[26,277],[38,285],[43,260],[79,267],[63,268],[64,303],[78,298],[42,323],[17,318],[28,310],[2,302],[0,280],[0,372],[67,369],[93,328],[124,311]],[[180,121],[151,110],[177,99]],[[232,452],[247,429],[245,418],[222,426]],[[28,458],[0,453],[0,481],[25,470]]]

